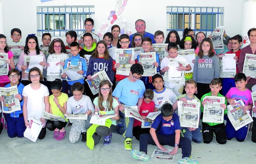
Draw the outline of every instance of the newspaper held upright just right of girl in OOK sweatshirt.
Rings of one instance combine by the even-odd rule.
[[[129,76],[131,64],[129,61],[134,59],[134,50],[133,49],[123,49],[116,48],[115,49],[115,62],[120,63],[120,67],[117,68],[118,75]]]

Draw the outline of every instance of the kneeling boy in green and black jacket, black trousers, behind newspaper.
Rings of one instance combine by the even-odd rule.
[[[221,80],[220,79],[213,79],[210,84],[211,92],[206,93],[201,98],[201,113],[204,112],[204,105],[207,104],[205,101],[205,96],[219,96],[224,97],[219,92],[222,89],[221,86]],[[225,104],[220,105],[222,108],[224,108],[224,115],[227,115],[227,101],[225,99]],[[226,136],[226,130],[225,130],[225,124],[223,123],[210,123],[210,122],[204,122],[202,119],[202,127],[203,127],[203,142],[204,143],[211,143],[213,139],[213,133],[216,135],[216,141],[219,144],[225,144],[227,143],[227,136]]]

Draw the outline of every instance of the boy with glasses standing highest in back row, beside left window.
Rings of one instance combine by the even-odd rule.
[[[92,34],[92,37],[94,38],[93,39],[93,42],[95,42],[95,43],[97,43],[97,42],[99,42],[100,41],[100,38],[99,38],[99,36],[98,35],[96,35],[96,34],[94,34],[93,32],[92,32],[92,29],[93,29],[93,27],[94,27],[94,20],[92,19],[92,18],[86,18],[85,20],[84,20],[84,28],[85,28],[85,32],[84,33],[86,33],[86,32],[89,32],[89,33],[91,33]],[[84,33],[83,34],[80,34],[79,36],[78,36],[78,44],[81,46],[81,47],[84,47],[84,43],[83,43],[83,36],[84,36]],[[75,40],[76,41],[76,40]]]

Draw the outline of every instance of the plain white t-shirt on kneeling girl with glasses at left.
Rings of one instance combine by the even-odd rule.
[[[28,98],[28,120],[30,120],[32,117],[40,119],[43,116],[43,111],[45,111],[44,97],[49,96],[48,88],[45,85],[41,84],[41,87],[39,89],[34,90],[29,84],[24,87],[22,95]]]

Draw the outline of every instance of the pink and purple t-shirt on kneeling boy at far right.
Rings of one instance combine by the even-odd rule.
[[[245,90],[245,91],[240,91],[237,89],[237,87],[232,87],[226,94],[227,98],[236,98],[235,100],[243,100],[243,103],[245,105],[249,105],[253,103],[253,100],[251,99],[251,91],[250,90]]]

